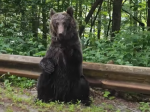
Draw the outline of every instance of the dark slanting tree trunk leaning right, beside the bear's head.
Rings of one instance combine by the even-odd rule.
[[[84,21],[85,21],[85,24],[87,24],[87,23],[89,22],[89,20],[90,20],[92,14],[94,13],[94,11],[95,11],[95,9],[97,8],[97,6],[98,6],[98,5],[102,5],[102,3],[103,3],[103,0],[96,0],[96,1],[95,1],[95,3],[93,4],[91,10],[89,11],[88,15],[86,16],[86,18],[85,18],[85,20],[84,20]],[[84,29],[85,29],[85,25],[82,24],[82,25],[80,26],[80,28],[79,28],[79,36],[80,36],[80,38],[81,38],[81,35],[82,35]]]

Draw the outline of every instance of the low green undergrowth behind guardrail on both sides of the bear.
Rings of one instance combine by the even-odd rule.
[[[49,37],[50,38],[50,37]],[[50,44],[50,39],[47,41]],[[97,63],[107,63],[112,60],[115,64],[131,66],[150,66],[150,32],[120,31],[115,39],[97,39],[85,34],[81,38],[83,60]],[[17,46],[16,46],[17,45]],[[0,37],[0,53],[44,56],[48,46],[42,44],[42,39],[34,39],[27,34],[22,38],[17,35]]]

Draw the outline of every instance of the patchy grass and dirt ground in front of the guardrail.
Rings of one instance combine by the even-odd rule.
[[[107,90],[92,88],[92,104],[86,107],[58,102],[35,103],[36,94],[35,86],[24,89],[0,82],[0,112],[150,112],[148,95],[121,93],[122,97],[109,96]]]

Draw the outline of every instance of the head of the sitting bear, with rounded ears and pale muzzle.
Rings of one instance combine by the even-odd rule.
[[[68,7],[66,12],[59,13],[51,9],[50,19],[50,31],[55,40],[67,40],[77,33],[72,7]]]

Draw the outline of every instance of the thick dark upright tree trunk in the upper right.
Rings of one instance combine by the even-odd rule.
[[[114,0],[112,14],[112,37],[120,30],[122,0]],[[113,38],[111,38],[113,40]]]

